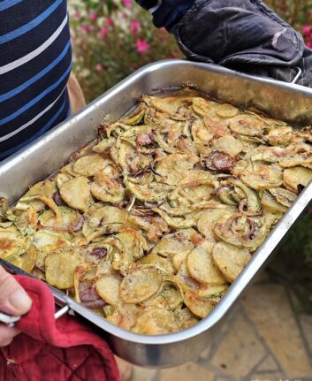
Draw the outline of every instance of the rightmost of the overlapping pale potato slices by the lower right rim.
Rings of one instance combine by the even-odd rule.
[[[235,248],[225,242],[218,242],[215,245],[212,256],[217,267],[224,274],[224,278],[231,283],[240,275],[240,271],[251,259],[251,255],[246,249]]]

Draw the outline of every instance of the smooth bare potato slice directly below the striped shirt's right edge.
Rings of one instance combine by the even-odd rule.
[[[86,211],[93,202],[90,184],[86,177],[66,181],[59,188],[59,193],[66,204],[73,209]]]

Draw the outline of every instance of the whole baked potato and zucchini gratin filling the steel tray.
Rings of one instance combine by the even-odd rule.
[[[126,330],[214,309],[312,179],[312,133],[185,89],[133,114],[8,209],[0,257]]]

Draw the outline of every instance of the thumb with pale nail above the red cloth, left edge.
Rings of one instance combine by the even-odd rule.
[[[15,278],[0,266],[0,311],[11,315],[24,315],[32,301]]]

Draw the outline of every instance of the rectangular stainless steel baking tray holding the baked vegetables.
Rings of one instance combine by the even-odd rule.
[[[34,141],[27,149],[5,160],[0,165],[0,196],[8,197],[10,202],[16,201],[28,186],[57,171],[72,152],[92,141],[100,123],[115,121],[130,110],[140,95],[185,85],[194,86],[220,101],[244,108],[255,106],[273,118],[283,119],[296,126],[310,124],[312,117],[312,90],[309,88],[255,78],[217,65],[184,60],[156,62],[134,72],[80,113]],[[186,362],[209,345],[240,293],[255,277],[311,198],[312,183],[285,213],[217,307],[199,324],[186,331],[159,336],[125,331],[53,287],[50,287],[51,291],[57,304],[67,304],[77,315],[99,327],[98,332],[110,341],[114,352],[128,362],[149,367],[171,367]],[[19,271],[8,263],[6,266],[11,271]]]

